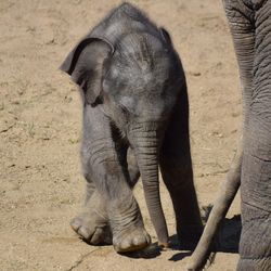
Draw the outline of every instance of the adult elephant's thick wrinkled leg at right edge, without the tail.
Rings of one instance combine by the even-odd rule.
[[[238,270],[271,270],[271,1],[255,7],[253,101],[245,127]]]

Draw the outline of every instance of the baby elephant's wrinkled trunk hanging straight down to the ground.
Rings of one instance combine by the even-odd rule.
[[[150,128],[150,127],[149,127]],[[158,243],[168,245],[168,230],[160,203],[158,180],[158,152],[162,136],[158,129],[142,129],[132,136],[138,160],[146,206],[155,228]]]

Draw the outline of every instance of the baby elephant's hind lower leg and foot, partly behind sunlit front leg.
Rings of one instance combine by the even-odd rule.
[[[70,221],[73,230],[91,245],[112,244],[112,231],[105,203],[95,191],[85,210]]]

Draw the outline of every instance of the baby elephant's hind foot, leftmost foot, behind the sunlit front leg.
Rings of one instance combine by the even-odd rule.
[[[112,244],[107,221],[95,212],[82,212],[70,221],[73,230],[91,245]]]

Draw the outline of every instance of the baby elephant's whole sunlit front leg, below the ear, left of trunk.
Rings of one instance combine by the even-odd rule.
[[[113,136],[114,129],[109,119],[99,107],[87,105],[83,129],[83,164],[87,165],[86,171],[96,188],[89,201],[94,198],[99,208],[94,207],[90,212],[99,214],[100,204],[103,204],[113,233],[113,245],[117,251],[145,247],[150,243],[150,236],[144,230],[140,209],[127,183],[120,157],[124,152],[119,150],[118,142],[113,140],[116,134]],[[88,215],[88,219],[93,218]],[[104,219],[107,220],[106,217]]]

